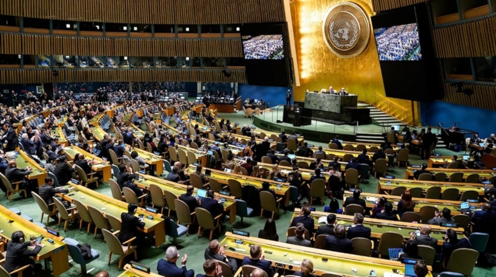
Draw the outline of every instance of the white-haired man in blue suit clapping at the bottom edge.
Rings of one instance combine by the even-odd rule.
[[[157,272],[159,275],[167,277],[193,277],[194,271],[186,269],[187,254],[181,259],[181,268],[176,266],[180,253],[176,246],[169,246],[165,251],[165,258],[160,259],[157,263]]]

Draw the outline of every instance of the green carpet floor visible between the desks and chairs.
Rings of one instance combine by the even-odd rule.
[[[246,119],[243,117],[242,112],[237,113],[237,114],[222,114],[222,118],[225,119],[231,119],[232,122],[239,122],[240,124],[249,124],[251,122],[250,119]],[[313,143],[310,142],[309,143]],[[314,142],[315,145],[322,145],[325,146],[324,143],[317,143]],[[441,153],[443,155],[451,155],[454,152],[446,149],[436,149],[437,153]],[[417,155],[411,155],[410,157],[410,162],[412,164],[422,164],[425,161],[419,160],[419,157]],[[404,178],[405,176],[405,169],[404,168],[398,168],[398,167],[393,167],[390,169],[388,172],[389,174],[395,175],[398,178]],[[369,184],[361,184],[360,187],[366,191],[366,192],[376,192],[377,191],[377,181],[371,177]],[[100,185],[98,189],[95,189],[99,193],[108,195],[112,197],[112,193],[110,191],[110,187],[108,185]],[[17,195],[16,195],[17,196]],[[40,215],[41,211],[37,204],[35,203],[33,198],[28,198],[28,199],[20,199],[16,198],[12,203],[9,203],[8,200],[5,200],[4,198],[1,199],[2,205],[6,206],[7,208],[10,207],[17,207],[22,211],[22,214],[30,215],[33,217],[34,221],[40,221]],[[328,204],[328,201],[326,202]],[[321,206],[316,206],[317,210],[323,210],[323,207]],[[290,224],[290,219],[291,219],[291,212],[288,212],[287,214],[283,214],[282,211],[280,213],[280,217],[277,219],[277,231],[279,233],[279,238],[280,241],[286,241],[286,230]],[[238,218],[237,221],[233,225],[227,225],[226,230],[230,231],[233,228],[239,228],[239,221],[240,219]],[[257,235],[258,230],[263,228],[263,225],[265,224],[265,219],[260,219],[258,216],[253,216],[251,218],[245,218],[245,230],[250,231],[252,235]],[[84,225],[85,226],[85,225]],[[50,227],[56,228],[57,229],[57,224],[54,221],[50,221]],[[64,237],[70,237],[78,240],[79,242],[86,242],[89,243],[94,249],[97,249],[100,251],[100,257],[88,264],[88,269],[95,268],[91,272],[92,275],[96,274],[100,270],[105,270],[111,274],[113,277],[117,277],[121,271],[118,270],[117,268],[117,261],[118,257],[113,256],[112,259],[112,264],[109,266],[107,265],[107,257],[108,257],[108,247],[103,241],[103,236],[100,233],[97,238],[95,239],[93,237],[93,234],[86,234],[85,228],[83,227],[82,231],[79,231],[78,229],[78,224],[74,225],[69,225],[67,231],[63,231],[63,225],[61,228],[59,228],[59,231],[61,232],[61,235]],[[223,235],[219,235],[218,233],[214,233],[214,237],[217,238],[219,241],[222,240]],[[208,232],[202,233],[202,236],[198,238],[196,234],[193,231],[193,234],[186,236],[183,235],[182,237],[178,238],[179,242],[179,247],[181,254],[188,254],[188,262],[186,264],[186,267],[188,269],[192,269],[195,272],[195,275],[198,273],[203,273],[202,265],[204,262],[203,258],[203,252],[205,248],[207,247],[207,244],[209,242],[208,239]],[[170,243],[170,242],[167,242]],[[151,267],[152,272],[156,272],[156,266],[157,262],[159,259],[164,258],[165,256],[165,249],[166,249],[166,244],[164,244],[162,247],[159,248],[148,248],[145,251],[142,251],[139,253],[139,262],[143,263],[145,265],[148,265]],[[76,277],[80,274],[80,268],[79,265],[75,263],[71,263],[71,268],[68,272],[63,274],[62,276],[70,276],[70,277]],[[494,269],[483,269],[483,268],[475,268],[473,273],[473,277],[491,277],[491,276],[496,276],[496,270]]]

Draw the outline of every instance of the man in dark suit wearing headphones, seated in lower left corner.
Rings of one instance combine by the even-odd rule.
[[[33,250],[29,250],[28,246],[36,245]],[[33,265],[34,261],[30,257],[38,255],[41,250],[41,243],[37,240],[25,241],[24,233],[22,231],[15,231],[12,233],[12,239],[7,243],[7,253],[5,256],[5,263],[3,268],[7,272],[12,272],[25,265]],[[32,276],[33,269],[28,267],[23,272],[22,276]]]

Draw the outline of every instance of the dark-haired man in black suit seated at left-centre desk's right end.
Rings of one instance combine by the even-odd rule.
[[[144,218],[138,218],[134,214],[138,209],[138,205],[136,203],[129,203],[127,205],[127,213],[121,214],[122,227],[119,232],[119,241],[121,243],[131,239],[132,237],[136,237],[134,241],[132,241],[132,245],[137,245],[138,247],[143,246],[144,235],[139,230],[145,227]]]

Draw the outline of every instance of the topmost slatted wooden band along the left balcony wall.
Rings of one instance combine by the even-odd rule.
[[[140,24],[284,21],[283,0],[1,0],[0,14]]]

